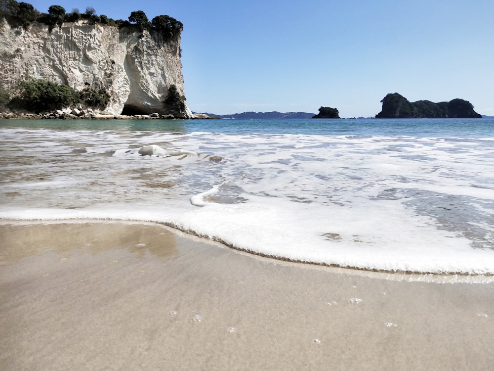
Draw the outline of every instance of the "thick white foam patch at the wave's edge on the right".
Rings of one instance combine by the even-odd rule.
[[[399,213],[397,201],[388,201],[394,204],[389,209],[369,208],[358,219],[351,210],[328,217],[336,210],[278,202],[210,204],[172,219],[181,229],[288,260],[383,271],[494,273],[492,250],[472,249],[460,235]]]

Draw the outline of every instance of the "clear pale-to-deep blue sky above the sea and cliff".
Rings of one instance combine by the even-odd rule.
[[[493,0],[25,0],[184,24],[187,105],[195,112],[373,116],[387,93],[463,98],[494,116]]]

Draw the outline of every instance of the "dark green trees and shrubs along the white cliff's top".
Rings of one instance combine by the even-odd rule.
[[[183,31],[183,24],[168,15],[158,15],[151,22],[142,10],[136,10],[130,13],[127,20],[114,20],[106,15],[97,15],[92,6],[86,7],[84,13],[79,9],[72,9],[67,13],[65,8],[60,5],[51,5],[47,13],[41,13],[33,5],[27,2],[17,2],[16,0],[0,0],[0,17],[4,17],[12,27],[24,27],[27,29],[34,22],[40,22],[48,25],[51,32],[56,26],[61,27],[64,22],[76,22],[80,19],[86,19],[89,23],[105,24],[119,27],[121,30],[131,32],[156,32],[163,37],[163,41],[169,42],[180,35]]]

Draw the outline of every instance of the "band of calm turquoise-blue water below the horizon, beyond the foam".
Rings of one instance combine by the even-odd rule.
[[[222,134],[378,135],[486,138],[494,119],[0,120],[0,127]]]

